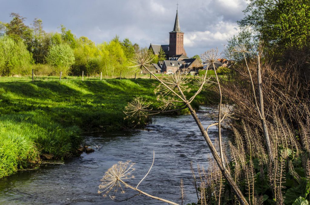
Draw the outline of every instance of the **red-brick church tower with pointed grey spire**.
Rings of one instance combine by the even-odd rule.
[[[186,55],[183,41],[184,32],[181,31],[178,10],[176,10],[175,26],[173,28],[173,31],[169,32],[169,58],[176,55]]]

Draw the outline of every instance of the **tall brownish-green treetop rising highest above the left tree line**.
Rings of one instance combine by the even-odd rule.
[[[7,35],[16,42],[23,40],[27,45],[27,49],[31,52],[33,30],[24,24],[26,18],[20,16],[18,13],[11,13],[10,16],[13,17],[13,19],[10,23],[6,24]]]

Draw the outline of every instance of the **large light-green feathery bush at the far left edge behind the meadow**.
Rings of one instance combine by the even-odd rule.
[[[32,55],[23,41],[15,42],[11,37],[0,37],[0,76],[30,74]]]

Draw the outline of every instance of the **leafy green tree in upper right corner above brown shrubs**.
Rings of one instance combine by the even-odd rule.
[[[310,36],[309,10],[308,0],[250,0],[238,24],[269,46],[303,47]]]

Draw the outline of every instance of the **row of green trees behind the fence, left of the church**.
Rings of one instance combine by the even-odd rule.
[[[9,23],[0,21],[0,76],[27,75],[31,70],[42,75],[106,76],[128,72],[130,59],[137,52],[151,52],[140,48],[128,38],[116,35],[111,41],[95,44],[85,36],[77,38],[70,29],[60,26],[60,33],[47,33],[41,19],[28,26],[26,18],[11,13]],[[165,59],[154,57],[154,63]]]

